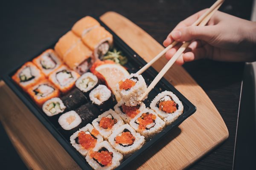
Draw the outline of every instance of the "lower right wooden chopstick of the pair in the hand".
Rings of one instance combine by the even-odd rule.
[[[217,0],[211,8],[209,8],[202,16],[199,17],[198,20],[193,23],[194,26],[205,26],[212,15],[215,13],[215,11],[218,10],[218,8],[222,5],[224,0]],[[157,77],[154,78],[154,80],[151,82],[151,84],[148,86],[146,91],[141,96],[140,100],[142,101],[145,96],[148,95],[148,93],[154,88],[154,86],[160,81],[160,79],[166,74],[166,72],[171,68],[171,66],[175,63],[175,61],[180,57],[181,54],[185,51],[185,49],[189,46],[191,41],[184,42],[183,45],[177,50],[177,52],[174,54],[174,56],[166,63],[166,65],[163,67],[163,69],[157,74]]]

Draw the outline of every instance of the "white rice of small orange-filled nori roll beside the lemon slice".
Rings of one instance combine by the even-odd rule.
[[[89,94],[90,100],[96,105],[101,105],[111,97],[111,91],[105,85],[98,85]]]

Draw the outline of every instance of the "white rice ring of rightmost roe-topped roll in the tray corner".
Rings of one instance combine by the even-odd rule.
[[[172,100],[178,105],[178,109],[173,113],[166,113],[165,111],[161,111],[156,105],[157,102],[169,101],[171,98]],[[153,109],[158,116],[163,119],[167,125],[174,122],[182,113],[183,113],[183,105],[182,102],[178,99],[178,97],[173,94],[171,91],[163,91],[162,93],[158,94],[150,103],[150,108]]]

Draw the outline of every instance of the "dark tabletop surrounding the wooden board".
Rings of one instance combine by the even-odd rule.
[[[22,64],[60,37],[80,18],[116,11],[162,44],[169,32],[215,0],[41,0],[9,1],[0,6],[0,76]],[[250,19],[253,0],[226,0],[220,11]],[[230,136],[224,144],[192,165],[192,170],[232,169],[239,95],[244,63],[201,60],[184,68],[210,97]],[[0,126],[3,169],[26,169]],[[1,168],[2,169],[2,168]]]

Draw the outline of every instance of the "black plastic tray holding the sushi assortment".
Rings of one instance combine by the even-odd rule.
[[[126,68],[128,68],[128,71],[130,73],[137,72],[141,67],[143,67],[146,62],[144,59],[142,59],[138,54],[136,54],[125,42],[123,42],[110,28],[108,28],[102,21],[97,19],[99,23],[105,27],[112,35],[113,35],[113,41],[114,46],[121,50],[125,56],[128,58],[128,63],[125,65]],[[56,41],[57,42],[57,41]],[[45,48],[42,51],[39,51],[38,54],[36,54],[33,58],[40,55],[43,51],[45,51],[48,48],[53,48],[55,43],[52,45],[49,45],[47,48]],[[31,59],[31,60],[32,60]],[[27,62],[27,61],[26,61]],[[64,149],[70,154],[70,156],[76,161],[77,164],[83,169],[83,170],[92,170],[90,165],[87,163],[87,161],[84,159],[83,156],[79,154],[78,151],[70,144],[69,138],[65,138],[63,134],[61,134],[61,129],[58,125],[53,125],[53,123],[49,120],[49,117],[41,110],[41,108],[38,108],[37,105],[35,105],[35,102],[30,99],[28,94],[26,94],[13,80],[12,75],[15,74],[17,69],[19,69],[22,65],[19,65],[15,68],[13,68],[11,71],[9,71],[7,74],[4,75],[3,80],[6,82],[6,84],[12,89],[12,91],[15,92],[15,94],[23,101],[23,103],[29,108],[29,110],[41,121],[41,123],[49,130],[50,133],[57,139],[57,141],[64,147]],[[145,71],[143,74],[143,77],[145,79],[145,82],[147,85],[150,84],[150,82],[156,77],[157,71],[154,70],[154,68],[150,67]],[[139,150],[134,152],[130,157],[125,159],[119,167],[116,168],[116,170],[121,170],[128,164],[130,164],[134,159],[137,158],[137,156],[140,156],[145,150],[152,147],[156,142],[158,142],[160,139],[162,139],[164,136],[169,134],[169,132],[180,125],[186,118],[191,116],[193,113],[195,113],[196,108],[195,106],[189,102],[188,99],[186,99],[182,94],[180,94],[179,91],[177,91],[166,79],[162,78],[160,82],[156,85],[156,87],[150,92],[148,95],[148,99],[145,100],[145,105],[149,107],[149,104],[154,97],[160,93],[161,91],[172,91],[183,103],[184,111],[181,116],[175,120],[171,125],[164,128],[160,133],[158,133],[156,136],[154,136],[150,141],[147,141],[143,147],[141,147]]]

